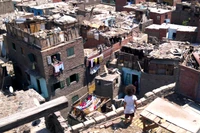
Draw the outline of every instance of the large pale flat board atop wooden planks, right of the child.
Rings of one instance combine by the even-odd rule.
[[[188,114],[180,106],[161,98],[156,98],[145,110],[190,132],[197,132],[200,127],[200,116],[198,114]]]

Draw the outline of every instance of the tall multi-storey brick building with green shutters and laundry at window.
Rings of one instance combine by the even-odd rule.
[[[6,28],[8,56],[14,62],[17,87],[34,88],[46,99],[70,95],[83,87],[83,41],[75,18],[15,19],[6,23]],[[85,93],[79,92],[73,94]]]

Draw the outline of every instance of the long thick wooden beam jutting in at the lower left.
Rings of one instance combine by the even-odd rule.
[[[0,132],[5,132],[41,117],[48,116],[66,107],[68,107],[68,100],[65,96],[62,96],[37,107],[4,117],[0,119]]]

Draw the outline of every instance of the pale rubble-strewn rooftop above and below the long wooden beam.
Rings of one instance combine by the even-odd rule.
[[[33,89],[16,91],[14,93],[15,95],[9,95],[8,91],[4,93],[0,92],[0,118],[22,112],[29,108],[36,107],[39,103],[45,102],[45,99]],[[36,126],[31,122],[7,131],[6,133],[24,132],[27,130],[31,133],[40,131],[49,133],[46,129],[44,118],[39,119],[38,125]]]

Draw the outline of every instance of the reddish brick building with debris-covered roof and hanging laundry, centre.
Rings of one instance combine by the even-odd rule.
[[[87,83],[92,83],[96,75],[104,72],[104,65],[112,60],[114,53],[133,40],[133,30],[138,29],[138,25],[132,23],[132,18],[130,14],[113,12],[93,15],[90,20],[83,21],[81,35],[85,41]],[[99,58],[103,60],[90,65]]]

